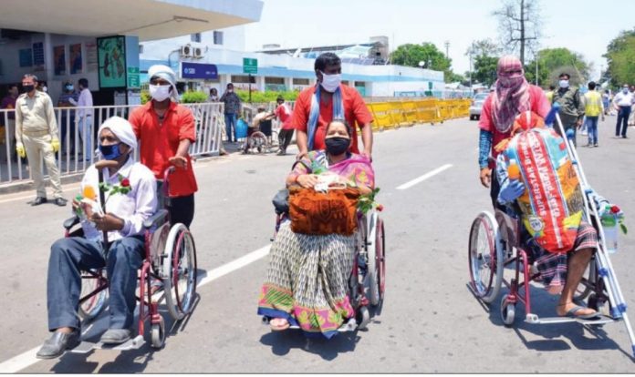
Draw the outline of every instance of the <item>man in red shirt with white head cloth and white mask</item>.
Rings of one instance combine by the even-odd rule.
[[[188,153],[196,140],[194,117],[188,107],[176,103],[176,75],[170,67],[151,66],[148,76],[152,99],[132,111],[130,124],[141,141],[141,163],[152,170],[159,189],[165,169],[176,167],[170,178],[168,210],[172,224],[189,228],[194,217],[194,192],[198,190]]]

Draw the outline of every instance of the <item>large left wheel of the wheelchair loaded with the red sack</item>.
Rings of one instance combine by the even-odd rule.
[[[474,219],[469,244],[470,284],[485,303],[496,300],[503,284],[504,255],[494,216],[481,212]]]

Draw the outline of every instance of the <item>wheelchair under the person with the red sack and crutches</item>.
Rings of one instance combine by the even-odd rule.
[[[597,222],[593,222],[597,229]],[[603,325],[619,319],[619,313],[611,307],[605,282],[599,279],[604,271],[599,268],[597,254],[593,255],[588,264],[574,295],[574,301],[587,300],[587,306],[601,314],[598,319],[540,318],[532,312],[530,283],[536,281],[540,274],[532,273],[533,255],[531,250],[526,248],[526,237],[522,233],[522,227],[519,219],[496,209],[494,215],[488,211],[479,213],[470,229],[469,287],[477,299],[490,304],[496,301],[501,288],[505,285],[509,291],[500,301],[500,315],[505,326],[510,327],[514,324],[517,303],[523,304],[525,321],[532,324],[577,321],[588,325]],[[507,280],[505,269],[510,267],[514,272],[512,278]]]

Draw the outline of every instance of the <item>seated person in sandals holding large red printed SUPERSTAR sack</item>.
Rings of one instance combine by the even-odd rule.
[[[557,315],[597,317],[597,311],[573,301],[598,234],[582,219],[584,199],[565,140],[527,111],[516,117],[512,137],[495,148],[502,152],[496,161],[497,200],[520,218],[521,244],[536,261],[547,291],[560,294]]]

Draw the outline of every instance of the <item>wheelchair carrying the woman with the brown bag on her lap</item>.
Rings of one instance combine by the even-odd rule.
[[[349,276],[349,299],[355,318],[342,324],[338,331],[364,330],[370,322],[370,307],[380,311],[386,289],[386,236],[379,210],[357,212],[358,229],[355,234],[355,258]],[[286,209],[276,207],[276,239],[280,225],[290,221]],[[264,320],[266,323],[266,320]]]

